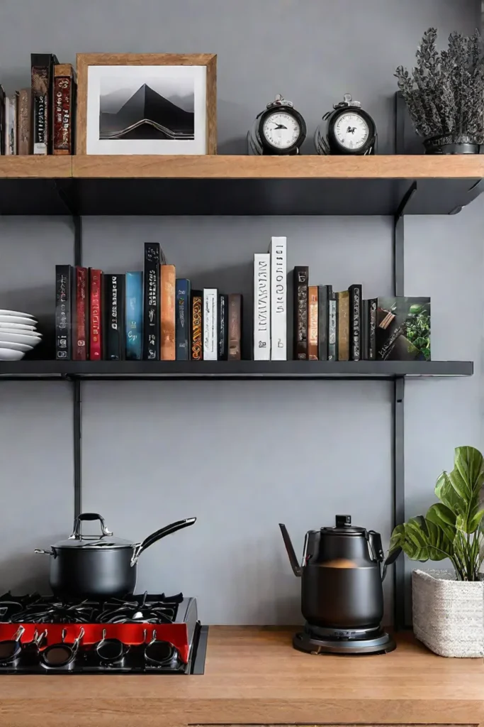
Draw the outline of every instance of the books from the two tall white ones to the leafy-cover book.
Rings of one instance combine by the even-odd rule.
[[[293,358],[297,361],[430,360],[430,298],[364,300],[362,286],[335,292],[309,285],[308,266],[292,270]],[[254,256],[256,361],[286,361],[287,238]]]

